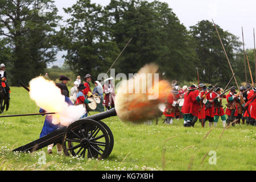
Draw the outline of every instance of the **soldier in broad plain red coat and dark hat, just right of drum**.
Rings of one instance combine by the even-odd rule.
[[[187,93],[184,96],[184,104],[182,112],[184,113],[184,125],[185,127],[191,127],[195,125],[197,121],[198,109],[197,109],[197,89],[196,85],[191,85],[187,89]]]

